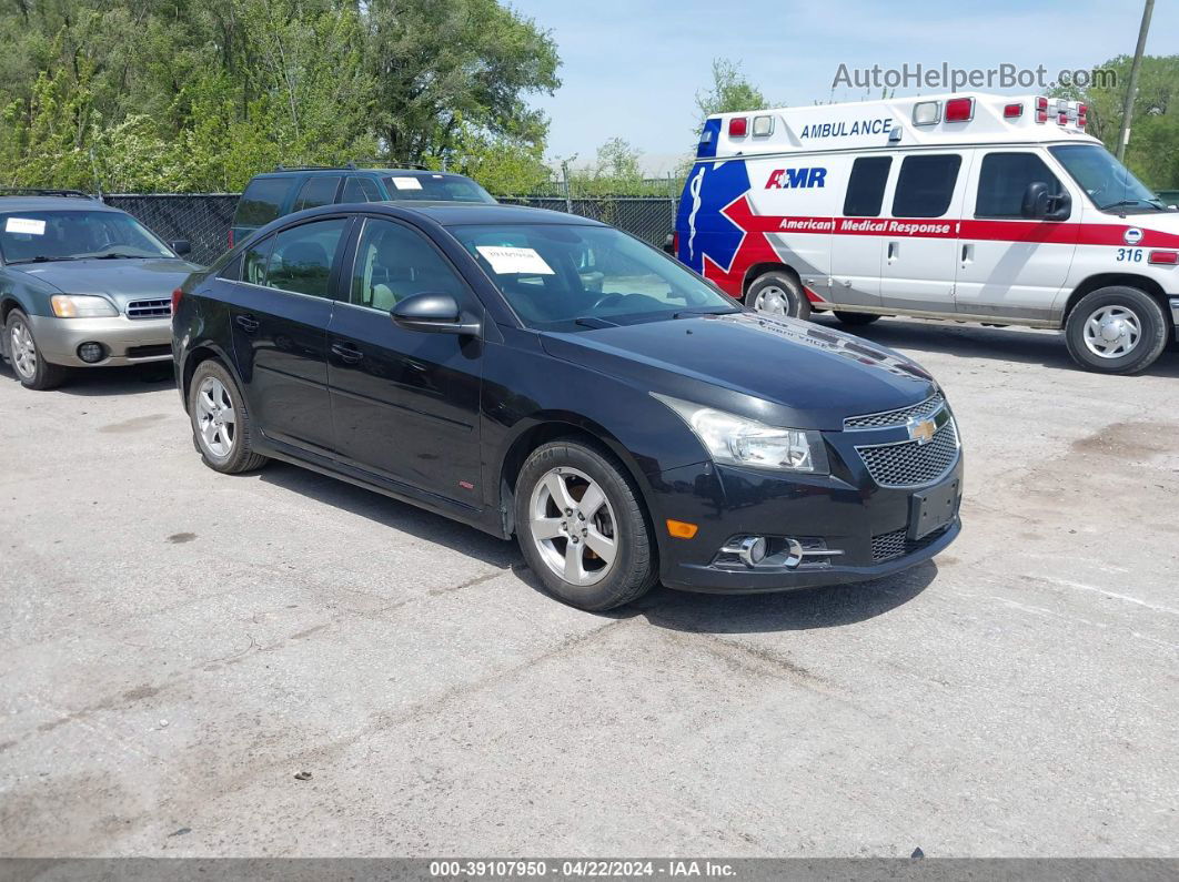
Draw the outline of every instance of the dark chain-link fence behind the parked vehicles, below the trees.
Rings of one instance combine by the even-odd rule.
[[[209,265],[225,252],[229,227],[237,207],[237,193],[116,193],[104,201],[137,218],[165,241],[186,239],[189,259]],[[677,199],[670,197],[502,197],[508,205],[568,211],[611,224],[660,246],[676,225]]]

